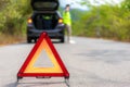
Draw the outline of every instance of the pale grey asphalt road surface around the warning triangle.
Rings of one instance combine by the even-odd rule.
[[[73,39],[76,44],[54,44],[70,73],[70,87],[130,87],[130,44]],[[26,42],[0,47],[0,87],[66,87],[63,78],[23,78],[16,83],[16,74],[32,47]],[[36,65],[50,63],[42,59],[44,55]]]

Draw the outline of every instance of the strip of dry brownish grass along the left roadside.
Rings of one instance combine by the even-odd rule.
[[[18,44],[25,41],[25,36],[16,36],[16,35],[0,35],[0,46]]]

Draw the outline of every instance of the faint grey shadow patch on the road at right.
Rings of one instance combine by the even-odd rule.
[[[90,50],[84,53],[75,53],[78,57],[86,57],[84,60],[96,60],[105,63],[117,64],[122,61],[130,61],[127,50]]]

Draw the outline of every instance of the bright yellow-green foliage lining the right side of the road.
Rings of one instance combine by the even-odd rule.
[[[74,21],[74,34],[130,41],[129,2],[126,0],[119,5],[92,5],[79,21]]]

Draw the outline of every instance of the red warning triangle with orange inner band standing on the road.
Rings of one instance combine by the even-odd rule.
[[[35,62],[40,55],[41,51],[44,50],[53,63],[52,67],[35,67]],[[38,77],[38,76],[50,76],[50,77],[65,77],[69,78],[69,73],[66,70],[63,61],[61,60],[57,51],[55,50],[52,41],[50,40],[47,33],[42,33],[39,40],[32,48],[31,52],[27,57],[26,61],[22,65],[17,73],[17,77]]]

